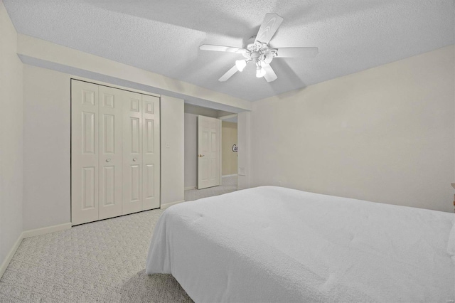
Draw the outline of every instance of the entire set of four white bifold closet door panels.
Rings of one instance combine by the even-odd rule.
[[[159,97],[71,86],[73,225],[159,208]]]

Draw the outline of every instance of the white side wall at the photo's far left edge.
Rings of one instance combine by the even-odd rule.
[[[22,233],[22,63],[16,39],[0,0],[0,277]]]

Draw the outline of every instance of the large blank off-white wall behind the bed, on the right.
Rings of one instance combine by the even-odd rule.
[[[254,102],[251,127],[253,186],[454,209],[454,46]]]

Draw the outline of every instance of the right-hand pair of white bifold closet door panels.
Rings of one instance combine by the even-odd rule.
[[[159,208],[159,97],[122,92],[123,214]]]

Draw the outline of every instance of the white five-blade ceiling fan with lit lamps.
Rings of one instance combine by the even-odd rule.
[[[278,78],[270,63],[273,58],[305,57],[311,58],[318,54],[318,48],[270,48],[269,41],[277,32],[283,18],[277,14],[266,14],[261,27],[257,32],[255,42],[250,43],[246,48],[233,48],[230,46],[213,46],[203,44],[200,50],[216,50],[230,53],[242,54],[245,59],[236,60],[235,65],[230,68],[218,81],[224,82],[232,77],[237,71],[242,71],[247,63],[252,62],[256,65],[256,77],[264,77],[267,82],[272,82]]]

